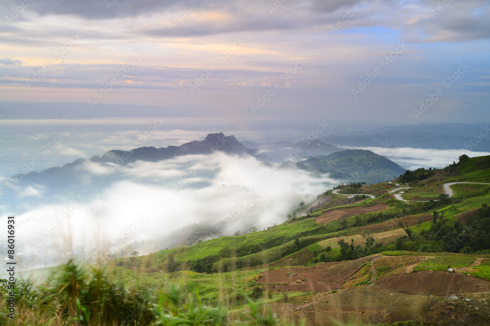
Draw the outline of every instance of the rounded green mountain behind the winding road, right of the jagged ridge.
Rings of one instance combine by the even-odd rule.
[[[367,184],[392,180],[405,169],[388,158],[365,150],[346,150],[324,156],[310,157],[301,162],[319,171],[335,171],[348,175],[348,181]]]

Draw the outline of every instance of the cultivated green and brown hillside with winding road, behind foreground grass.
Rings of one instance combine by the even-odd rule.
[[[243,318],[240,311],[267,316],[270,309],[280,319],[306,325],[486,325],[488,162],[490,156],[462,156],[445,169],[401,174],[392,183],[412,180],[399,188],[386,182],[340,186],[298,205],[290,220],[267,230],[146,256],[105,257],[105,273],[137,291],[150,289],[145,290],[148,302],[167,291],[156,315],[136,315],[142,320],[164,321],[158,311],[166,306],[188,316],[189,305],[166,301],[176,291],[169,283],[183,282],[178,291],[190,297],[182,294],[178,300],[193,300],[197,291],[209,306],[199,303],[196,309],[211,311],[205,309],[221,304],[231,320]],[[462,183],[450,186],[454,195],[446,196],[444,185],[456,181]],[[79,282],[84,288],[88,281]]]

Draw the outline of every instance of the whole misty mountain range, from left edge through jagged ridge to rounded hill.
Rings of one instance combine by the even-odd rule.
[[[300,169],[314,176],[329,174],[330,178],[340,182],[366,182],[375,183],[392,179],[405,172],[396,163],[386,157],[370,151],[344,150],[341,148],[314,140],[309,143],[251,143],[244,142],[253,149],[247,148],[234,136],[225,136],[223,133],[211,133],[202,141],[193,141],[181,146],[167,148],[141,147],[131,151],[108,151],[102,156],[93,156],[89,160],[79,158],[63,167],[53,167],[40,173],[18,174],[11,179],[19,180],[13,187],[2,189],[1,199],[10,203],[17,211],[24,211],[30,207],[46,204],[46,200],[62,200],[67,194],[87,194],[95,196],[111,183],[119,181],[118,174],[96,173],[90,174],[85,169],[88,162],[103,164],[104,166],[123,166],[136,161],[158,162],[177,156],[188,154],[206,154],[214,151],[242,157],[253,156],[264,164],[276,165],[279,169]],[[319,153],[323,153],[320,154]],[[324,154],[327,155],[324,155]],[[312,156],[315,155],[315,156]],[[306,159],[305,159],[306,158]],[[303,161],[300,161],[302,160]],[[300,162],[294,162],[295,160]],[[281,162],[277,163],[271,162]],[[212,172],[206,177],[212,177]],[[22,193],[42,189],[46,196],[29,196],[25,200]],[[54,199],[57,198],[57,199]]]

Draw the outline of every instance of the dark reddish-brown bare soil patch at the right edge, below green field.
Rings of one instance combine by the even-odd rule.
[[[383,278],[376,285],[399,292],[432,295],[490,292],[490,282],[459,273],[422,271]]]

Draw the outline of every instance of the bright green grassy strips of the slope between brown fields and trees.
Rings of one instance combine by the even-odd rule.
[[[442,179],[434,179],[426,182],[422,187],[417,187],[412,196],[426,195],[431,197],[431,193],[437,193],[438,187],[441,184],[450,181],[471,181],[471,182],[490,182],[490,170],[487,168],[486,164],[488,158],[470,158],[464,164],[459,165],[457,170],[457,175],[446,176]],[[477,169],[476,171],[474,169]],[[404,216],[400,212],[413,207],[411,205],[418,204],[407,204],[400,202],[396,199],[392,199],[392,196],[387,194],[387,190],[384,185],[371,185],[367,188],[367,193],[375,193],[379,195],[383,194],[381,197],[376,199],[368,199],[363,203],[356,203],[354,205],[346,205],[342,207],[335,207],[335,209],[350,208],[360,205],[369,205],[378,202],[387,203],[390,208],[384,213],[398,214]],[[457,197],[461,197],[461,201],[452,205],[446,205],[437,208],[441,213],[445,213],[445,218],[448,221],[454,221],[452,215],[465,212],[474,208],[481,207],[481,204],[488,203],[488,187],[482,185],[455,185],[453,190]],[[330,192],[329,196],[332,196]],[[342,192],[341,192],[342,193]],[[335,195],[333,195],[335,196]],[[339,196],[341,197],[341,196]],[[314,212],[313,216],[319,216],[332,208],[324,206]],[[432,213],[432,212],[425,212]],[[375,214],[375,213],[373,213]],[[407,214],[406,214],[407,215]],[[362,214],[357,216],[358,218],[367,218],[368,214]],[[356,218],[348,217],[346,218],[349,223],[353,222]],[[332,227],[338,225],[338,221],[331,222]],[[431,221],[422,223],[421,225],[414,225],[410,229],[414,232],[419,232],[421,229],[428,229],[431,225]],[[394,227],[398,229],[398,227]],[[142,273],[137,269],[129,270],[126,267],[113,267],[113,277],[115,279],[124,279],[129,283],[137,282],[151,284],[156,288],[162,288],[169,281],[177,282],[178,280],[185,280],[187,288],[189,290],[198,290],[201,296],[206,301],[217,302],[217,301],[227,301],[233,304],[233,300],[236,299],[239,294],[247,294],[251,291],[253,286],[255,286],[255,281],[260,277],[260,273],[264,271],[261,268],[262,264],[269,263],[268,266],[274,266],[273,268],[278,268],[279,266],[291,265],[289,259],[294,259],[297,261],[302,258],[301,263],[307,264],[315,254],[321,251],[326,245],[331,245],[333,250],[329,255],[336,256],[339,254],[339,248],[336,245],[336,239],[330,239],[332,237],[346,236],[345,233],[354,232],[354,228],[347,229],[341,233],[331,233],[331,234],[318,234],[316,236],[308,236],[308,233],[318,232],[319,225],[316,224],[313,219],[303,219],[296,222],[284,222],[278,226],[270,228],[266,231],[253,232],[246,235],[238,237],[222,237],[219,239],[211,239],[197,243],[194,246],[183,248],[183,249],[171,249],[163,250],[158,253],[146,256],[146,258],[138,258],[140,263],[145,263],[148,266],[153,266],[156,268],[163,268],[164,263],[169,254],[174,253],[176,261],[185,262],[196,259],[203,259],[207,256],[219,255],[223,250],[228,250],[234,252],[243,246],[261,246],[262,251],[258,253],[253,253],[250,255],[245,255],[238,258],[228,258],[221,263],[228,264],[231,269],[240,268],[243,266],[253,266],[248,267],[246,270],[242,271],[230,271],[226,273],[219,274],[200,274],[189,271],[174,272],[174,273]],[[398,233],[401,230],[398,230]],[[357,231],[359,232],[359,231]],[[294,247],[294,239],[297,237],[302,237],[301,248],[296,250]],[[381,234],[376,238],[382,236]],[[359,235],[348,234],[345,239],[355,239],[356,242],[362,242],[363,238]],[[359,239],[358,239],[359,238]],[[427,253],[410,253],[410,252],[384,252],[383,255],[427,255]],[[416,270],[444,270],[448,265],[451,267],[465,267],[469,266],[475,257],[467,257],[461,254],[448,254],[448,253],[431,253],[434,256],[433,259],[429,259],[416,266]],[[485,256],[482,256],[485,257]],[[474,267],[475,272],[472,274],[483,279],[490,280],[490,266],[479,265]],[[218,289],[218,290],[217,290]],[[234,299],[235,298],[235,299]],[[277,300],[274,296],[273,299]]]

